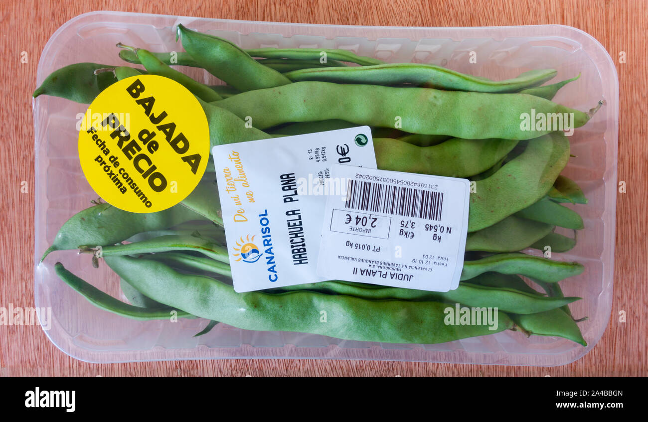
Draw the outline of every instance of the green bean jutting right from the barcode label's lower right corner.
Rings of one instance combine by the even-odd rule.
[[[577,262],[552,261],[522,253],[495,254],[480,260],[464,261],[461,281],[470,280],[483,272],[495,271],[502,274],[520,274],[533,280],[555,283],[564,278],[577,276],[583,272],[583,269],[583,265]]]

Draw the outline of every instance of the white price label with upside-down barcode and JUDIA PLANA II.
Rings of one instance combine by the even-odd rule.
[[[468,232],[467,179],[332,166],[346,195],[327,198],[318,274],[408,289],[459,285]]]

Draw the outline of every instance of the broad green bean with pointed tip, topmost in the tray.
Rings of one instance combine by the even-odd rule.
[[[240,91],[290,83],[286,76],[260,64],[227,39],[192,31],[178,24],[176,40],[180,35],[182,46],[200,67]]]

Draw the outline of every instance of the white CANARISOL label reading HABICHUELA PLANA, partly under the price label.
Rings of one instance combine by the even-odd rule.
[[[220,145],[212,153],[235,291],[326,280],[317,275],[324,207],[327,195],[346,188],[329,168],[376,168],[371,129]]]

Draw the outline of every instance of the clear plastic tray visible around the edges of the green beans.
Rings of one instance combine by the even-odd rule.
[[[56,257],[49,256],[39,263],[67,218],[89,206],[89,199],[96,197],[84,178],[77,153],[75,124],[86,105],[40,96],[34,101],[34,290],[36,307],[52,307],[52,328],[47,336],[58,348],[89,362],[283,357],[555,366],[575,361],[596,346],[607,326],[612,302],[619,96],[614,63],[596,39],[560,25],[351,27],[91,12],[71,19],[52,35],[40,58],[36,84],[71,63],[121,63],[115,48],[118,42],[152,51],[181,50],[172,30],[178,23],[230,39],[246,49],[349,49],[386,62],[432,63],[494,80],[514,78],[530,69],[553,68],[558,71],[553,83],[580,72],[579,80],[561,89],[554,101],[585,111],[601,99],[607,104],[570,137],[575,157],[562,174],[583,188],[588,205],[576,206],[585,224],[584,230],[579,230],[577,246],[555,258],[579,261],[585,266],[583,274],[561,283],[561,287],[566,296],[583,297],[570,307],[575,317],[588,317],[579,323],[588,346],[583,348],[557,337],[527,338],[512,331],[421,345],[246,331],[224,324],[218,324],[207,335],[193,337],[206,320],[139,322],[97,309],[67,287],[53,267],[56,261],[62,261],[78,276],[120,297],[117,278],[106,265],[93,269],[90,258],[80,259],[75,250],[56,252]],[[476,54],[476,63],[470,63],[469,54]],[[217,82],[202,69],[182,70],[201,82]]]

